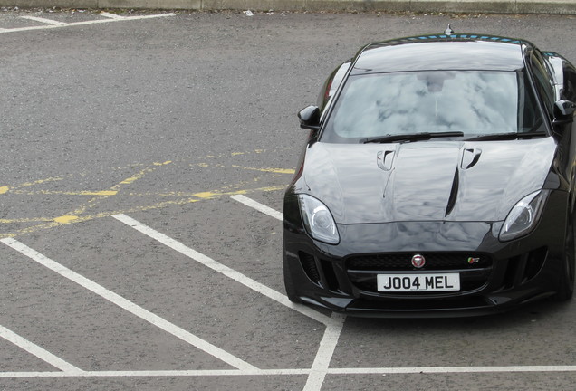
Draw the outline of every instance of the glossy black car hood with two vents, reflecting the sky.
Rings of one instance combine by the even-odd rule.
[[[316,142],[304,157],[306,192],[337,224],[504,220],[542,188],[553,138],[404,144]]]

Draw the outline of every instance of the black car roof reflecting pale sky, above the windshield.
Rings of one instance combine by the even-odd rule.
[[[532,43],[480,34],[439,34],[370,43],[351,74],[437,70],[517,71]]]

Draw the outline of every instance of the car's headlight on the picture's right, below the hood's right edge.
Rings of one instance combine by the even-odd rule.
[[[504,225],[500,230],[500,240],[506,242],[530,233],[542,215],[547,195],[548,191],[539,190],[523,197],[514,205],[504,220]]]

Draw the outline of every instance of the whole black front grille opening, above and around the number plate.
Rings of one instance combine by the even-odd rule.
[[[421,253],[426,263],[421,268],[412,265],[415,253],[387,253],[353,256],[346,260],[346,272],[361,291],[379,293],[377,275],[386,272],[451,272],[460,274],[460,292],[482,288],[492,272],[490,256],[479,253]],[[399,295],[427,295],[437,292],[401,292]]]

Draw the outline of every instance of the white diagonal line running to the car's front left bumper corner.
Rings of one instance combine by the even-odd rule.
[[[151,237],[152,239],[155,239],[158,242],[167,245],[172,250],[175,250],[178,253],[186,255],[188,258],[193,259],[196,262],[200,262],[206,267],[209,267],[210,269],[216,272],[220,272],[226,275],[226,277],[231,278],[232,280],[240,282],[241,284],[245,285],[251,290],[257,291],[258,293],[268,297],[269,299],[279,302],[283,306],[301,312],[303,315],[315,319],[325,325],[331,324],[333,322],[331,318],[322,315],[320,312],[312,310],[311,308],[305,307],[303,305],[294,304],[292,301],[288,300],[288,298],[282,293],[274,291],[272,288],[269,288],[258,281],[254,281],[250,277],[246,277],[241,272],[236,272],[234,269],[231,269],[220,262],[216,262],[215,260],[207,257],[203,253],[198,253],[196,250],[191,249],[184,243],[180,243],[177,240],[174,240],[165,234],[161,234],[155,229],[150,228],[148,225],[142,224],[139,221],[134,220],[130,216],[113,215],[112,217],[114,217],[115,219],[124,224],[131,226],[140,233],[145,234]]]

